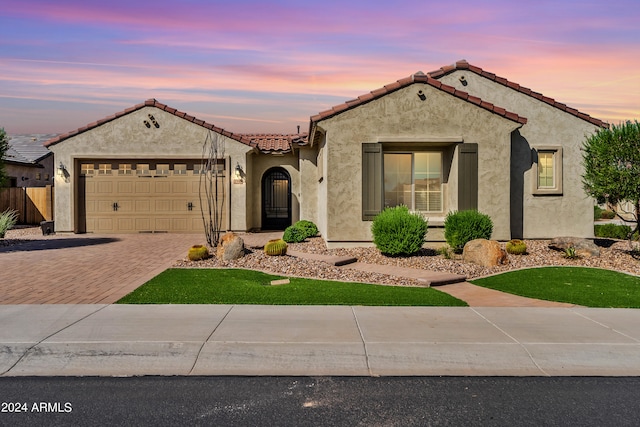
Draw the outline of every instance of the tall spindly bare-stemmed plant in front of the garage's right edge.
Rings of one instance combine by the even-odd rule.
[[[225,202],[224,140],[217,133],[207,133],[202,145],[199,194],[204,234],[209,246],[215,248],[220,241]]]

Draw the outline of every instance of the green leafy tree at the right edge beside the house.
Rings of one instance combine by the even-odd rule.
[[[625,222],[635,223],[629,238],[640,229],[640,123],[627,121],[599,129],[584,143],[584,189],[598,202],[615,206],[631,202],[633,212]],[[633,227],[632,227],[633,228]]]

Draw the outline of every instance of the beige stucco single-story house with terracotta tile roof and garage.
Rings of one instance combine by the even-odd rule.
[[[225,223],[315,222],[329,247],[368,245],[405,204],[443,240],[447,212],[491,216],[494,239],[593,235],[580,147],[607,126],[466,61],[311,117],[308,134],[234,134],[154,99],[60,135],[56,231],[200,232],[202,144],[224,142]]]

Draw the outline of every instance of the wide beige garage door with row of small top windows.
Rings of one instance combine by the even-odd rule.
[[[81,162],[79,231],[202,232],[199,186],[198,161]]]

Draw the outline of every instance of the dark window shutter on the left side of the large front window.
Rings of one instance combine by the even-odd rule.
[[[362,220],[382,211],[382,145],[362,144]]]

